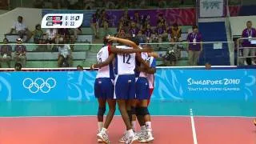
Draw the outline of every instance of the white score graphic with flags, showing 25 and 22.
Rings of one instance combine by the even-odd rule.
[[[83,14],[46,14],[42,28],[78,28],[82,25]]]

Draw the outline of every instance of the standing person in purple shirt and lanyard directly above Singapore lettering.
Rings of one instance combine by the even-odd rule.
[[[202,34],[198,31],[198,26],[192,26],[192,30],[193,32],[187,36],[187,41],[190,42],[188,47],[189,65],[197,66],[199,55],[202,51]]]

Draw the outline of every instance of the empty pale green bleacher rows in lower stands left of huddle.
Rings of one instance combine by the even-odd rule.
[[[73,56],[73,66],[82,65],[90,66],[96,62],[96,54],[102,45],[88,45],[88,42],[77,42],[74,45]],[[58,67],[57,58],[58,52],[38,52],[37,45],[26,45],[26,67],[28,68],[50,68]],[[14,44],[11,45],[14,51]],[[14,58],[14,52],[12,53]],[[11,61],[11,66],[14,66],[14,60]],[[2,67],[7,67],[6,62],[2,62]]]

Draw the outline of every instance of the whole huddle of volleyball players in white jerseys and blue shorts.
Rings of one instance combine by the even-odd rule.
[[[122,45],[112,46],[112,42]],[[152,142],[154,140],[148,110],[154,89],[157,54],[150,46],[139,46],[137,38],[122,39],[107,36],[97,54],[98,68],[94,94],[98,99],[98,142],[110,143],[107,129],[114,117],[116,102],[126,125],[126,132],[119,142]],[[109,106],[106,120],[103,117]],[[141,130],[135,133],[136,119]]]

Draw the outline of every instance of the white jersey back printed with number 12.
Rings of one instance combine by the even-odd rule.
[[[116,46],[118,49],[133,49],[129,46]],[[136,54],[117,54],[115,58],[115,74],[134,74]]]

